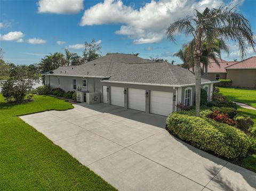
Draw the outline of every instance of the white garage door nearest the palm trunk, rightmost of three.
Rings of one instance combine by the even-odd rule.
[[[150,91],[150,113],[169,115],[172,112],[172,97],[170,92]]]

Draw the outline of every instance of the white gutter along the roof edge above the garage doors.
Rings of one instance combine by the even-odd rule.
[[[151,83],[142,83],[142,82],[131,82],[131,81],[109,81],[109,80],[100,80],[101,82],[108,82],[108,83],[117,83],[117,84],[134,84],[134,85],[147,85],[147,86],[164,86],[164,87],[187,87],[193,86],[195,84],[185,84],[185,85],[170,85],[170,84],[151,84]],[[201,84],[212,84],[217,83],[219,81],[210,81],[210,82],[203,82]]]

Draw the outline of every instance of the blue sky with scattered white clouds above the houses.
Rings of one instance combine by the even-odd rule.
[[[173,54],[191,37],[166,37],[166,29],[178,18],[195,9],[237,5],[251,22],[256,34],[255,0],[0,0],[0,47],[4,60],[15,64],[38,63],[45,55],[70,52],[82,55],[83,44],[93,38],[101,53],[139,53],[140,57],[159,57],[182,63]],[[228,42],[229,56],[240,60],[237,44]],[[255,55],[252,49],[247,57]]]

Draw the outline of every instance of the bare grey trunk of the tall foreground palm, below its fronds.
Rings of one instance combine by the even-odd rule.
[[[201,97],[201,62],[200,54],[194,53],[194,62],[195,62],[195,76],[196,76],[196,116],[200,116],[200,97]]]

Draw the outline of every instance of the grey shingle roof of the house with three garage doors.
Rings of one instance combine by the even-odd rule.
[[[193,72],[167,62],[154,62],[131,54],[109,54],[78,66],[60,67],[54,76],[107,78],[105,81],[156,85],[195,84]],[[202,82],[211,82],[206,77]]]

